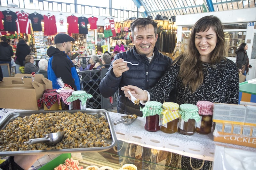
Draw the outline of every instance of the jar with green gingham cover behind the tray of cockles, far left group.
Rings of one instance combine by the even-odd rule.
[[[67,101],[73,103],[73,109],[75,110],[86,110],[86,101],[90,98],[92,98],[91,94],[87,94],[83,90],[76,90],[72,92]]]

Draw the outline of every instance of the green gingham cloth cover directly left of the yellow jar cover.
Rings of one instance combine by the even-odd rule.
[[[158,101],[148,101],[145,104],[145,107],[141,108],[140,111],[142,111],[143,116],[153,116],[153,115],[159,115],[162,116],[162,103]]]

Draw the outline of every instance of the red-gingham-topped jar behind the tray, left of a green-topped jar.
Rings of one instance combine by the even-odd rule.
[[[62,89],[58,93],[58,103],[60,105],[61,110],[72,110],[73,102],[68,102],[67,99],[72,95],[74,90],[72,89]]]

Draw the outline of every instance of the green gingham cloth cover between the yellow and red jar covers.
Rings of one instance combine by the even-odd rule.
[[[195,119],[196,122],[200,121],[201,119],[198,114],[198,107],[193,104],[181,104],[179,113],[185,122],[188,122],[188,119]]]

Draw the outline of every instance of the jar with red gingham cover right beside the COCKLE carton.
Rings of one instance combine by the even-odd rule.
[[[200,121],[196,122],[196,132],[200,134],[208,134],[212,131],[212,114],[213,103],[210,101],[196,102]]]

